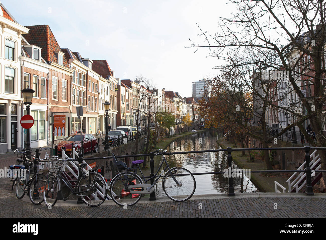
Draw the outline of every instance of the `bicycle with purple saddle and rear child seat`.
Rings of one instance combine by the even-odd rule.
[[[157,184],[158,179],[163,177],[162,187],[165,194],[173,201],[182,202],[190,199],[196,189],[196,181],[192,173],[185,169],[174,167],[170,168],[164,153],[165,151],[159,152],[162,149],[156,150],[157,154],[162,154],[163,161],[158,167],[155,175],[149,179],[145,179],[141,168],[139,165],[144,162],[144,160],[133,161],[134,168],[128,168],[126,163],[123,161],[117,161],[116,156],[112,153],[112,158],[118,171],[123,171],[118,173],[112,180],[110,184],[110,194],[112,200],[120,206],[132,206],[136,204],[144,194],[151,194],[154,192],[154,185]],[[155,153],[151,152],[151,153]],[[156,155],[157,155],[156,154]],[[157,176],[160,168],[166,163],[166,167]],[[142,179],[137,175],[137,168],[140,170]],[[165,170],[168,168],[168,172],[164,174]],[[156,178],[157,176],[157,178]],[[156,179],[155,179],[156,178]],[[146,184],[151,179],[154,179],[153,184]],[[145,184],[144,184],[145,183]]]

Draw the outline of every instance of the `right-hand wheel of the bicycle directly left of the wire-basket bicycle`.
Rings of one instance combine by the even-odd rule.
[[[44,185],[46,182],[46,175],[37,174],[36,177],[32,179],[31,184],[29,185],[29,199],[34,204],[40,204],[44,201]]]

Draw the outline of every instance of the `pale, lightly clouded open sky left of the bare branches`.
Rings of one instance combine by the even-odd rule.
[[[83,58],[106,59],[115,77],[143,76],[153,86],[191,97],[191,82],[215,75],[217,58],[207,49],[185,48],[200,27],[218,31],[231,12],[227,1],[2,0],[23,25],[48,24],[61,48]]]

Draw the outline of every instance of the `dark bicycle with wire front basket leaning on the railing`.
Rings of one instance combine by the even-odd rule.
[[[104,177],[98,173],[98,169],[83,170],[86,163],[76,163],[78,167],[78,179],[67,180],[63,174],[63,166],[66,161],[76,159],[59,159],[53,156],[48,167],[48,177],[44,186],[43,198],[48,207],[53,207],[57,200],[67,200],[61,191],[61,182],[67,185],[74,198],[81,198],[88,206],[96,207],[101,205],[107,196],[107,184]],[[73,183],[71,183],[73,182]]]

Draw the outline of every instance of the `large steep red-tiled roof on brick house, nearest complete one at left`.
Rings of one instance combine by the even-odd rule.
[[[30,43],[34,44],[38,47],[41,47],[41,56],[47,62],[56,62],[58,63],[58,59],[56,58],[54,51],[61,51],[61,48],[55,39],[49,25],[35,25],[35,26],[26,26],[29,28],[28,34],[22,34],[22,36]],[[63,57],[63,65],[66,68],[69,68],[69,64],[67,62],[66,57]]]

